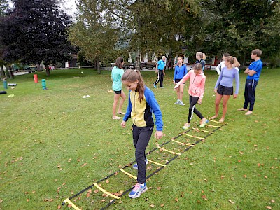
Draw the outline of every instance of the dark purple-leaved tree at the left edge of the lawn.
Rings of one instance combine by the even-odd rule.
[[[71,56],[67,27],[69,15],[57,8],[55,0],[14,0],[14,8],[0,25],[0,41],[6,62],[44,62],[48,66],[66,62]]]

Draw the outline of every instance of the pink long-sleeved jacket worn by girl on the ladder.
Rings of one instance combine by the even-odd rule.
[[[193,97],[200,97],[200,99],[202,99],[204,95],[206,76],[203,72],[200,74],[195,74],[195,71],[191,70],[181,79],[180,83],[185,83],[188,78],[190,78],[188,94]]]

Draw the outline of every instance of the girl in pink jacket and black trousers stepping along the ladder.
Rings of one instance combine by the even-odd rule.
[[[188,129],[190,127],[190,120],[193,118],[193,113],[195,113],[200,119],[200,127],[204,127],[209,123],[207,118],[202,116],[202,113],[198,111],[195,105],[202,104],[202,99],[205,89],[206,76],[202,71],[202,64],[195,64],[193,70],[190,70],[186,76],[184,76],[177,85],[175,85],[174,90],[176,90],[182,83],[190,78],[190,86],[188,87],[188,94],[190,94],[190,108],[188,109],[188,123],[183,126],[183,129]]]

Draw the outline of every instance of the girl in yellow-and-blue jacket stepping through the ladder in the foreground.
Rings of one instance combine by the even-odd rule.
[[[132,118],[132,134],[137,163],[133,166],[138,169],[137,185],[129,194],[131,198],[137,198],[148,190],[146,186],[146,165],[148,160],[145,155],[146,147],[153,133],[153,116],[155,115],[157,139],[162,138],[162,112],[153,92],[146,87],[138,70],[127,70],[122,77],[123,84],[129,90],[127,112],[121,123],[125,127],[128,118]]]

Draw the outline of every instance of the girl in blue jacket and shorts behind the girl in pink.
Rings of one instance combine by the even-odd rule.
[[[175,66],[175,71],[174,71],[174,77],[173,77],[173,83],[176,85],[179,83],[179,81],[186,76],[188,73],[187,71],[187,66],[183,64],[183,57],[178,57],[177,58],[178,62]],[[174,104],[179,104],[179,105],[185,105],[183,103],[183,89],[184,89],[185,84],[182,83],[179,88],[177,88],[177,102]]]

